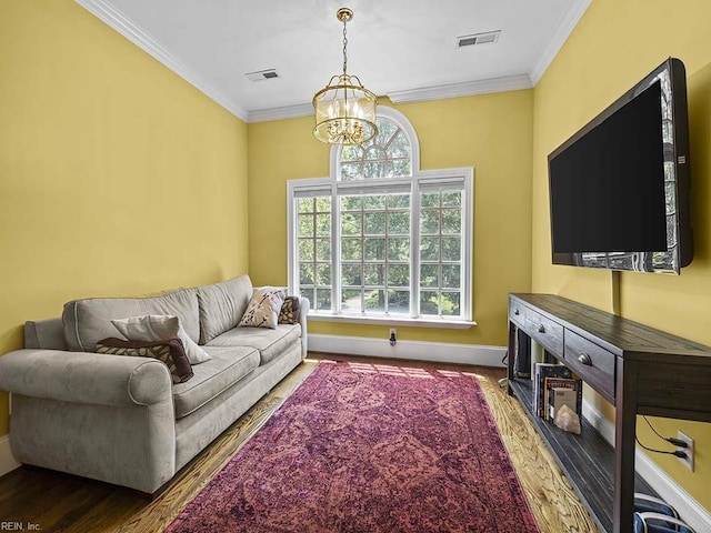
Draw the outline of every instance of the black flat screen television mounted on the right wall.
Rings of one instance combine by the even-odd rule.
[[[548,157],[554,264],[680,273],[693,258],[683,63],[670,58]]]

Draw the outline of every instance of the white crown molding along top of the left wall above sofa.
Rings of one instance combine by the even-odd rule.
[[[240,105],[231,101],[222,92],[214,88],[209,81],[196,72],[192,67],[186,63],[176,54],[171,53],[150,33],[141,29],[126,14],[117,10],[104,0],[74,0],[91,14],[106,22],[109,27],[126,37],[141,50],[168,67],[196,89],[214,100],[242,121],[247,121],[248,113]]]

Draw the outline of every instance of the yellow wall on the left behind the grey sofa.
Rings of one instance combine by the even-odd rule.
[[[68,300],[247,271],[247,125],[71,0],[0,4],[0,353]]]

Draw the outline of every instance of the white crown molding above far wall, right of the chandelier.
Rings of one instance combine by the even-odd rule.
[[[528,74],[519,74],[407,91],[392,91],[388,93],[388,98],[390,98],[392,103],[422,102],[445,98],[471,97],[473,94],[485,94],[488,92],[518,91],[520,89],[531,89],[532,87]]]

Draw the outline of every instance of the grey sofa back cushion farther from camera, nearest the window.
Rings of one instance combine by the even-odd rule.
[[[240,275],[197,288],[200,308],[200,344],[236,328],[252,298],[252,281]]]

